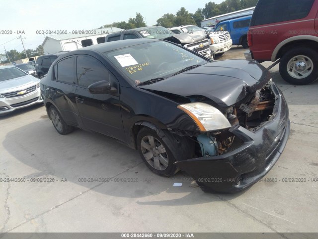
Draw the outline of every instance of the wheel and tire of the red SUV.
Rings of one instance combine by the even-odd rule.
[[[307,85],[318,79],[318,54],[308,47],[286,52],[279,63],[282,78],[293,85]]]

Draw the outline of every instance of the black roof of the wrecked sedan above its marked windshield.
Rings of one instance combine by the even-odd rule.
[[[111,41],[111,42],[106,42],[106,43],[100,43],[97,45],[86,46],[86,47],[80,48],[78,50],[74,50],[71,53],[76,52],[76,53],[80,54],[80,51],[82,51],[82,50],[94,50],[94,51],[104,53],[107,51],[112,51],[112,50],[116,50],[116,49],[120,49],[120,48],[125,48],[125,47],[129,47],[129,46],[134,46],[134,45],[140,45],[143,43],[154,42],[154,41],[160,41],[160,40],[139,38],[139,39],[128,39],[128,40],[123,40],[123,41]]]

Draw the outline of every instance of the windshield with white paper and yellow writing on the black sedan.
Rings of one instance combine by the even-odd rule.
[[[204,58],[166,41],[154,41],[104,53],[136,84],[173,74],[208,62]]]

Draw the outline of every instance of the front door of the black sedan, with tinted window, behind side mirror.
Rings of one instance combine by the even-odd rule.
[[[124,141],[121,118],[119,83],[115,76],[96,58],[78,55],[76,102],[83,126],[86,129]],[[99,81],[109,81],[117,89],[113,94],[91,94],[88,86]]]

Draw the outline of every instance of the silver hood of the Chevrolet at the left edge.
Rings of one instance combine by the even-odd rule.
[[[39,83],[40,79],[35,78],[34,76],[21,76],[18,78],[6,80],[6,81],[0,81],[0,93],[6,93],[10,91],[14,91],[15,88],[21,88],[23,86],[27,85],[34,85],[36,83]]]

